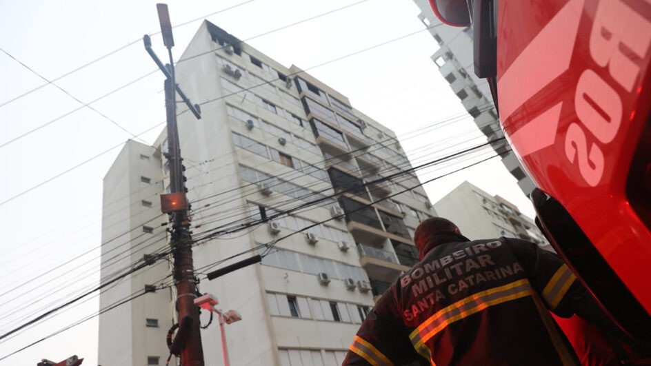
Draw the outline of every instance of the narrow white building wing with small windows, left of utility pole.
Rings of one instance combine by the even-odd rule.
[[[148,159],[146,159],[146,157]],[[141,181],[141,176],[151,179]],[[167,246],[160,214],[159,192],[162,187],[161,161],[154,149],[128,141],[104,179],[102,220],[102,281],[114,272],[126,272],[139,263],[143,254]],[[151,207],[142,201],[152,203]],[[152,227],[151,234],[143,225]],[[100,308],[104,309],[139,294],[145,284],[154,284],[168,274],[166,261],[127,276],[103,290]],[[99,363],[102,365],[143,365],[147,356],[167,355],[165,335],[172,325],[163,309],[169,291],[146,294],[112,309],[99,317]],[[161,307],[161,305],[163,305]],[[155,318],[159,327],[146,327],[146,318]]]

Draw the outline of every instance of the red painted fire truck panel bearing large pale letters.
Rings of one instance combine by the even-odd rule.
[[[651,314],[651,2],[503,0],[497,17],[505,135]]]

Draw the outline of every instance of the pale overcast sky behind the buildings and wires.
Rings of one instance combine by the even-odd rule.
[[[413,165],[452,151],[442,150],[450,145],[482,141],[470,139],[481,133],[463,116],[459,99],[431,61],[437,43],[411,0],[168,5],[172,24],[181,25],[174,28],[177,58],[201,19],[208,19],[272,59],[308,70],[348,96],[354,108],[397,133]],[[326,12],[332,13],[317,17]],[[285,26],[290,27],[277,30]],[[100,244],[103,176],[127,139],[137,135],[153,143],[165,119],[162,74],[143,77],[156,70],[143,48],[143,34],[152,34],[161,58],[165,50],[161,36],[154,34],[159,32],[154,1],[0,0],[0,27],[4,334],[97,285],[99,250],[94,249]],[[46,83],[37,74],[54,85],[11,101]],[[432,179],[454,167],[419,176],[421,181]],[[425,191],[435,202],[464,180],[505,197],[532,216],[528,200],[499,159],[428,183]],[[90,298],[0,340],[0,358],[97,309],[97,298]],[[35,365],[41,358],[58,362],[72,354],[86,358],[84,365],[97,365],[97,318],[0,360],[0,365]]]

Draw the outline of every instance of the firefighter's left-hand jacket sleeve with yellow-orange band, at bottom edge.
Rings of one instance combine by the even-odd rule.
[[[375,304],[355,334],[342,366],[405,365],[421,358],[410,343],[407,329],[392,297],[392,289]]]

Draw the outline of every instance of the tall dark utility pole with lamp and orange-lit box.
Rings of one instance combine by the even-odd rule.
[[[189,230],[188,221],[188,199],[186,197],[185,177],[183,176],[183,164],[181,159],[181,146],[179,144],[179,132],[177,129],[177,92],[181,99],[192,110],[197,119],[201,119],[199,105],[192,105],[188,98],[181,92],[179,85],[174,80],[174,59],[172,59],[172,23],[170,13],[166,4],[156,4],[163,44],[168,49],[170,63],[163,65],[151,48],[151,39],[145,35],[143,41],[145,49],[154,62],[159,66],[165,80],[165,107],[167,114],[168,130],[168,152],[163,152],[170,164],[170,194],[161,194],[161,210],[169,214],[172,222],[171,241],[172,258],[174,262],[174,282],[177,286],[176,307],[179,313],[179,331],[174,340],[175,347],[181,353],[181,364],[183,366],[204,366],[203,347],[201,345],[201,332],[199,323],[199,307],[194,305],[195,276],[192,261],[192,233]]]

